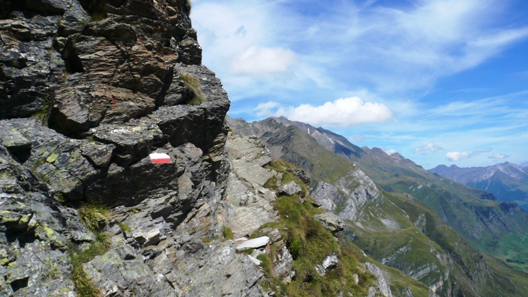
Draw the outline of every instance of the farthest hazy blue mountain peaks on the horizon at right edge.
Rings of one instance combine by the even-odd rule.
[[[528,167],[504,162],[467,168],[438,165],[429,171],[470,187],[484,189],[498,200],[518,203],[528,211]]]

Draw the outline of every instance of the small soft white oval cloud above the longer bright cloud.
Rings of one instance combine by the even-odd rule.
[[[233,74],[261,76],[286,72],[297,63],[297,55],[290,49],[249,46],[231,62]]]

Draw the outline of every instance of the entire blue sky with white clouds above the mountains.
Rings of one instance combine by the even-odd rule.
[[[195,0],[231,117],[284,116],[426,169],[528,161],[526,0]]]

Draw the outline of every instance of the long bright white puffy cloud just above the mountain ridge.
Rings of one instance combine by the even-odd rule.
[[[302,121],[322,126],[354,126],[372,122],[387,121],[393,117],[386,105],[365,102],[359,97],[340,98],[323,105],[302,104],[285,108],[277,102],[259,103],[259,116],[285,116],[292,121]]]

